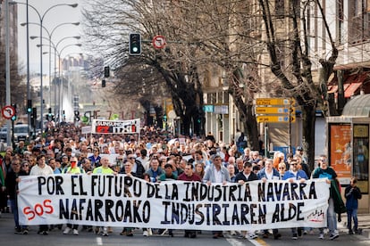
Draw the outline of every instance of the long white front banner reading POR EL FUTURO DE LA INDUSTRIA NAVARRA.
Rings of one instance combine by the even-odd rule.
[[[21,225],[110,225],[192,230],[326,226],[329,184],[147,183],[125,176],[21,176]]]

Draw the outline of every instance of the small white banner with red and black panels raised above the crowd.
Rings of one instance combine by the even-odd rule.
[[[94,134],[139,134],[140,119],[108,120],[93,119],[92,133]]]

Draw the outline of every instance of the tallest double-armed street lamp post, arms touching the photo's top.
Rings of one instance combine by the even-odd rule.
[[[40,26],[40,117],[41,117],[41,126],[40,126],[40,129],[41,129],[41,133],[44,132],[44,101],[43,101],[43,60],[42,60],[42,35],[43,35],[43,32],[42,32],[42,29],[43,29],[43,22],[44,22],[44,19],[46,17],[46,13],[47,12],[50,12],[52,9],[58,7],[58,6],[70,6],[72,8],[75,8],[78,6],[78,4],[55,4],[55,5],[52,5],[50,6],[48,9],[46,9],[45,12],[43,12],[42,14],[40,12],[38,12],[38,9],[34,6],[32,6],[31,4],[25,4],[25,3],[20,3],[20,2],[11,2],[12,4],[24,4],[26,5],[27,7],[30,7],[32,8],[37,14],[38,14],[38,19],[39,19],[39,26]]]

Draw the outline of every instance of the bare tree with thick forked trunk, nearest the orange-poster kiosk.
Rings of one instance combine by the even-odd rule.
[[[323,7],[320,1],[285,1],[289,5],[282,10],[273,6],[271,1],[258,0],[261,7],[265,25],[265,43],[270,56],[271,70],[273,75],[282,83],[282,87],[293,95],[302,109],[303,137],[307,148],[308,164],[314,167],[315,157],[315,110],[322,108],[325,102],[322,95],[326,93],[325,86],[333,66],[338,57],[338,50],[332,40],[330,29],[325,20]],[[307,8],[310,4],[316,4],[321,12],[326,34],[331,40],[332,53],[327,59],[320,60],[323,67],[323,77],[320,79],[321,86],[316,86],[313,80],[312,61],[308,50]],[[282,18],[283,16],[283,18]],[[282,22],[283,21],[283,22]],[[277,30],[284,25],[289,25],[289,33],[279,35]],[[280,26],[279,26],[280,25]],[[278,55],[278,44],[283,43],[285,47],[285,61],[290,61],[282,66]]]

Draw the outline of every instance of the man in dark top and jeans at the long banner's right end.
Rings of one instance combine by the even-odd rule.
[[[326,158],[326,155],[320,155],[319,159],[319,167],[315,168],[312,178],[327,178],[326,183],[332,184],[332,180],[335,180],[337,178],[337,173],[335,170],[328,165],[328,160]],[[332,196],[332,186],[331,186],[331,193],[329,198],[329,207],[327,209],[327,222],[329,227],[329,233],[330,233],[330,240],[334,240],[339,237],[338,230],[337,230],[337,217],[335,215],[334,211],[334,199]],[[324,239],[324,228],[320,228],[320,239]]]

